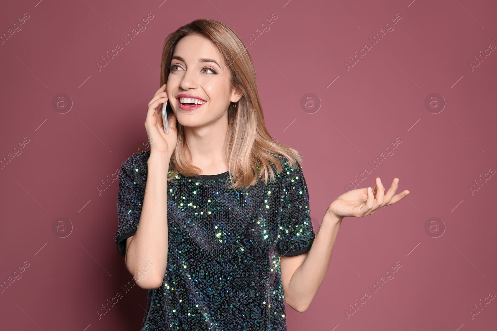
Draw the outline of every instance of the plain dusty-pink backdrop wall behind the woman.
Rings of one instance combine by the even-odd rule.
[[[315,231],[366,167],[359,187],[374,187],[376,177],[389,187],[397,177],[399,192],[411,192],[374,215],[343,220],[311,307],[287,306],[288,329],[496,330],[496,299],[473,318],[470,310],[497,294],[497,52],[469,65],[497,45],[496,9],[488,0],[4,4],[0,34],[25,12],[29,18],[0,46],[0,158],[29,142],[0,171],[0,283],[29,266],[0,294],[0,329],[139,330],[147,291],[138,286],[98,318],[131,281],[114,242],[118,181],[98,188],[143,150],[167,34],[212,18],[248,46],[269,132],[304,156]],[[99,70],[148,13],[146,30]],[[250,44],[272,13],[269,30]],[[397,13],[395,29],[373,45],[368,38]],[[347,70],[366,43],[371,50]],[[72,100],[65,114],[52,106],[59,93]],[[308,93],[317,112],[301,107]],[[425,107],[431,93],[445,100],[441,112]],[[376,168],[368,163],[387,152]],[[65,238],[52,229],[59,217],[73,227]],[[431,217],[438,224],[425,230]],[[368,286],[398,261],[395,277],[373,293]],[[366,291],[371,297],[351,310]]]

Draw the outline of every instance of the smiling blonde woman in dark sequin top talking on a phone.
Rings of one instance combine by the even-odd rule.
[[[285,303],[309,307],[343,217],[409,191],[394,196],[395,179],[385,194],[377,178],[374,192],[343,194],[316,236],[302,156],[267,132],[251,57],[220,22],[167,36],[161,85],[145,121],[151,149],[119,174],[117,249],[149,289],[141,330],[286,330]]]

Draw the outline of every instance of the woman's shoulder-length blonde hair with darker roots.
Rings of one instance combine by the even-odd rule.
[[[264,115],[257,91],[257,79],[252,58],[240,37],[228,26],[213,19],[197,19],[166,37],[162,52],[160,86],[167,82],[169,65],[178,41],[188,35],[199,35],[209,39],[223,54],[231,71],[230,87],[240,88],[243,96],[236,108],[228,108],[228,133],[225,153],[230,171],[232,189],[248,188],[260,179],[264,185],[275,179],[271,164],[277,173],[282,170],[283,158],[290,166],[301,162],[302,155],[290,146],[274,141],[267,132]],[[176,121],[177,122],[177,121]],[[181,173],[190,177],[199,175],[201,169],[192,165],[186,157],[188,146],[184,127],[177,122],[178,139],[171,155],[167,180]],[[283,157],[283,158],[281,158]]]

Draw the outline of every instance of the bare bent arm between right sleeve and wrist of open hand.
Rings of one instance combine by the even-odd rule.
[[[285,302],[298,312],[309,308],[325,279],[342,219],[327,212],[309,252],[280,257]]]

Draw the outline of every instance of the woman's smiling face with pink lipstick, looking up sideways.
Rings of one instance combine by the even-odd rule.
[[[231,72],[223,55],[205,37],[181,38],[169,65],[168,101],[177,121],[185,127],[217,121],[227,114],[230,102],[240,98],[230,91]]]

